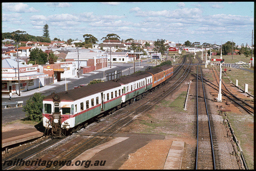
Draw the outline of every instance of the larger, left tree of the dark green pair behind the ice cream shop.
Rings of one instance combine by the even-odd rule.
[[[42,49],[35,48],[30,51],[29,61],[36,61],[36,64],[45,64],[47,56]]]

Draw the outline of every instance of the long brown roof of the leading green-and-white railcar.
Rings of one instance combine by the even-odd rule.
[[[44,100],[53,100],[53,95],[58,94],[60,99],[58,99],[57,101],[61,101],[61,100],[74,101],[95,93],[100,93],[105,90],[118,87],[118,86],[121,86],[121,85],[113,81],[100,82],[97,84],[87,85],[84,87],[79,87],[79,88],[71,89],[68,91],[60,92],[60,93],[54,93],[49,96],[46,96]]]

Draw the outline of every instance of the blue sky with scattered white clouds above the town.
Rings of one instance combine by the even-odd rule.
[[[92,34],[102,43],[114,33],[120,40],[251,45],[254,15],[254,2],[2,3],[2,33],[42,36],[47,24],[50,38],[61,41]]]

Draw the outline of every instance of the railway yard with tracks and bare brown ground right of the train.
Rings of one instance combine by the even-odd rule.
[[[218,66],[200,67],[200,59],[189,55],[184,59],[174,65],[166,84],[100,121],[91,121],[63,139],[44,137],[15,146],[6,154],[2,150],[2,168],[164,169],[170,147],[184,142],[181,160],[173,164],[179,166],[176,169],[253,169],[253,97],[224,83],[222,102],[217,102]],[[244,107],[232,100],[232,94],[245,102]],[[91,160],[100,165],[3,166],[5,160],[15,159]]]

